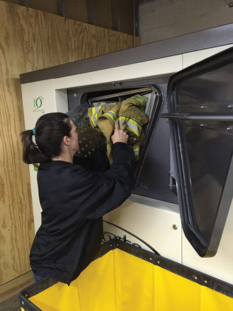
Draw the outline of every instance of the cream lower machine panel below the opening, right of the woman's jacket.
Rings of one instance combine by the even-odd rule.
[[[156,202],[156,200],[155,200]],[[160,203],[161,205],[161,203]],[[180,214],[169,211],[173,204],[162,202],[162,209],[142,205],[127,200],[123,205],[104,216],[104,220],[127,228],[151,245],[161,256],[181,263],[181,231]],[[104,223],[104,231],[114,232],[115,235],[127,235],[129,241],[138,243],[142,248],[151,251],[136,238],[112,225]]]

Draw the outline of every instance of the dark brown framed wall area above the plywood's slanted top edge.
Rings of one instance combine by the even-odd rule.
[[[28,8],[34,8],[36,10],[41,10],[56,15],[65,15],[65,17],[68,19],[74,19],[75,21],[82,21],[84,23],[88,23],[92,19],[92,22],[95,26],[111,30],[116,29],[114,28],[114,24],[117,22],[119,27],[117,28],[118,31],[127,33],[128,35],[133,35],[132,0],[64,0],[60,1],[60,3],[64,3],[64,12],[59,12],[59,1],[57,0],[3,1],[21,4],[22,6],[25,6],[26,4]]]

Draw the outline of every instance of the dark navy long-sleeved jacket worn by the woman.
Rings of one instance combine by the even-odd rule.
[[[30,251],[35,274],[69,284],[93,260],[102,240],[102,216],[131,194],[133,161],[133,150],[117,142],[111,169],[104,173],[64,161],[39,167],[41,227]]]

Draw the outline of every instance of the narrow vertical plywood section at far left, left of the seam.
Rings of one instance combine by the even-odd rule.
[[[0,2],[0,284],[29,270],[34,234],[28,168],[21,162],[24,113],[10,7]]]

